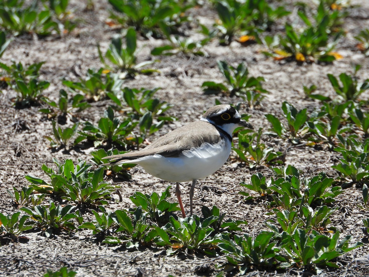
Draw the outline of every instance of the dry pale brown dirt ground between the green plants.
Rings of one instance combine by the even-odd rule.
[[[1,62],[10,64],[12,60],[22,61],[23,64],[32,64],[45,61],[41,68],[41,79],[48,80],[51,85],[45,95],[51,99],[58,98],[59,89],[64,88],[62,79],[77,81],[84,76],[89,68],[100,68],[97,52],[97,43],[104,50],[110,38],[119,30],[109,27],[105,21],[109,17],[109,4],[104,0],[94,1],[93,10],[86,10],[86,1],[70,1],[78,20],[77,28],[69,35],[62,37],[50,36],[38,38],[35,35],[23,35],[14,39],[6,49]],[[282,1],[292,14],[287,20],[296,19],[294,1]],[[324,95],[334,95],[334,91],[327,79],[327,73],[338,75],[341,72],[352,73],[353,64],[361,64],[361,79],[369,78],[369,58],[356,49],[354,36],[365,26],[369,26],[369,1],[356,0],[352,4],[360,4],[349,9],[349,17],[345,19],[344,29],[346,36],[338,44],[337,52],[343,56],[339,61],[328,65],[296,64],[296,62],[277,62],[262,54],[264,47],[252,44],[247,47],[238,42],[232,42],[227,47],[219,46],[215,39],[204,49],[208,57],[184,57],[181,55],[162,56],[161,61],[154,64],[160,73],[151,76],[138,75],[135,79],[126,80],[124,86],[130,88],[156,88],[160,87],[157,96],[174,105],[169,114],[178,118],[176,122],[163,127],[159,132],[149,137],[154,141],[157,137],[176,129],[188,122],[198,120],[204,110],[213,106],[217,96],[203,95],[201,85],[204,81],[219,81],[223,78],[216,62],[225,60],[237,65],[245,61],[253,76],[263,76],[266,82],[263,87],[270,94],[263,100],[262,105],[249,109],[242,105],[241,113],[250,114],[251,121],[256,129],[265,127],[269,123],[265,114],[274,113],[281,118],[281,105],[284,100],[293,103],[298,109],[308,107],[311,111],[318,107],[318,102],[305,99],[303,85],[317,85],[317,92]],[[217,14],[211,10],[210,4],[203,7],[192,8],[188,11],[194,19],[211,27]],[[283,27],[279,22],[271,34]],[[196,33],[196,23],[193,21],[184,27],[184,33],[190,37],[201,37]],[[138,62],[151,59],[150,51],[158,45],[164,44],[162,40],[145,40],[139,37]],[[43,136],[52,135],[51,121],[38,112],[40,107],[15,109],[11,99],[14,97],[11,90],[0,93],[0,212],[13,213],[17,208],[13,205],[6,189],[13,186],[21,188],[29,183],[24,178],[30,174],[46,178],[41,170],[45,163],[49,167],[53,164],[52,158],[59,161],[71,158],[75,163],[78,159],[89,161],[94,148],[75,148],[66,151],[51,151],[48,141]],[[368,99],[368,95],[362,98]],[[237,103],[241,99],[220,98],[222,103]],[[96,123],[104,110],[112,102],[108,100],[92,103],[92,107],[81,113],[81,121]],[[70,122],[68,124],[71,125]],[[17,126],[21,126],[18,128]],[[303,171],[306,177],[325,171],[331,177],[337,177],[331,165],[337,164],[339,155],[328,149],[313,147],[293,147],[275,138],[263,137],[265,143],[286,151],[286,165],[294,165]],[[237,140],[234,138],[235,143]],[[235,159],[231,154],[227,163],[213,175],[200,180],[194,195],[194,212],[201,214],[201,206],[211,207],[217,205],[221,212],[227,212],[232,219],[246,219],[248,225],[244,231],[252,234],[266,229],[263,222],[269,218],[265,215],[266,208],[263,202],[245,202],[243,196],[237,192],[245,190],[238,184],[250,181],[251,174],[256,171],[267,176],[273,172],[268,167],[259,167],[250,170]],[[137,166],[131,170],[132,180],[118,182],[123,201],[110,201],[107,209],[128,209],[134,205],[129,200],[135,191],[143,193],[158,193],[165,190],[168,183],[152,177]],[[173,185],[173,184],[172,184]],[[190,184],[183,184],[182,193],[186,211],[189,210]],[[174,188],[171,189],[171,200],[176,201]],[[353,242],[362,241],[364,246],[355,249],[338,258],[339,269],[319,269],[320,276],[369,276],[368,240],[361,230],[362,218],[367,218],[368,211],[362,212],[357,204],[362,201],[361,189],[349,187],[344,194],[338,197],[338,211],[332,216],[331,226],[340,230],[341,235],[354,236]],[[86,215],[90,216],[91,215]],[[91,217],[92,218],[92,217]],[[60,235],[48,239],[37,232],[25,234],[28,240],[16,243],[7,243],[0,246],[0,276],[42,276],[47,269],[58,270],[68,266],[77,272],[77,276],[215,276],[219,273],[226,259],[219,257],[200,257],[193,255],[166,256],[162,248],[145,248],[129,251],[121,246],[99,245],[94,242],[92,232],[78,231],[71,236]],[[306,274],[306,275],[305,275]],[[235,273],[237,276],[237,273]],[[300,269],[274,271],[270,269],[254,269],[246,276],[307,276]]]

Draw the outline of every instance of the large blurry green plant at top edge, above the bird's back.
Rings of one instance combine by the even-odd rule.
[[[161,25],[176,32],[176,26],[187,21],[183,13],[193,6],[189,1],[178,0],[109,0],[109,3],[114,10],[124,15],[121,18],[112,14],[111,18],[121,24],[133,26],[144,37],[161,37]]]

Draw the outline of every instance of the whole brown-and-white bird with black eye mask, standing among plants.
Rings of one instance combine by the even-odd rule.
[[[186,213],[181,199],[180,183],[192,182],[190,214],[197,180],[220,169],[231,154],[232,133],[237,127],[254,129],[252,123],[241,119],[231,105],[216,105],[200,120],[170,131],[138,151],[111,155],[107,164],[139,164],[160,179],[176,183],[176,196],[183,218]]]

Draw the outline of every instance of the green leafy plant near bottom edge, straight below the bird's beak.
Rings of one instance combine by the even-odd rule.
[[[228,235],[223,235],[218,247],[226,255],[228,263],[238,267],[240,274],[244,275],[252,265],[276,264],[279,249],[273,241],[273,234],[273,232],[263,231],[255,238],[248,234],[235,235],[234,240]]]

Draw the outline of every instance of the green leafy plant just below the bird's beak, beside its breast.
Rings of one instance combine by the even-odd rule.
[[[283,163],[282,160],[276,161],[277,158],[283,155],[282,152],[274,151],[272,147],[261,143],[262,130],[262,128],[259,128],[258,132],[254,132],[251,135],[247,130],[240,131],[238,133],[238,148],[232,148],[237,153],[239,159],[248,163],[250,168],[262,164]],[[252,145],[254,142],[256,144]]]

